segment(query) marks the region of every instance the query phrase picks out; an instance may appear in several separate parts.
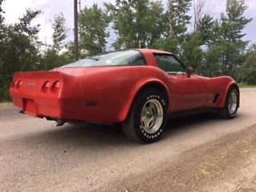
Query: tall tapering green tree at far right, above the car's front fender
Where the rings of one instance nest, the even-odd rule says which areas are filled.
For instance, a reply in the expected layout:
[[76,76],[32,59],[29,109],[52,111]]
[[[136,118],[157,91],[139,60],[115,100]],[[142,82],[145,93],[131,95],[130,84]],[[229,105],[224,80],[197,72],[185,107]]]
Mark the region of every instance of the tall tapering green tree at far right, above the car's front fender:
[[251,18],[243,16],[247,6],[243,0],[227,0],[226,15],[221,15],[221,21],[216,26],[216,40],[211,50],[218,50],[216,61],[222,64],[221,74],[232,75],[244,59],[245,48],[248,42],[243,41],[244,27]]

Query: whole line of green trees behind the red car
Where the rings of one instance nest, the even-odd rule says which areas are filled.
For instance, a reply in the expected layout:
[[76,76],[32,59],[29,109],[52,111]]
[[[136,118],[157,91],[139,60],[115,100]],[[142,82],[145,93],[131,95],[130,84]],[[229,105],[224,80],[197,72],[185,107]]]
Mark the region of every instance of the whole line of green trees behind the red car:
[[[31,22],[41,10],[27,9],[14,24],[6,24],[0,0],[0,101],[10,99],[14,71],[50,70],[74,61],[74,42],[67,41],[63,14],[54,16],[53,44],[38,38],[40,25]],[[230,75],[256,84],[256,44],[243,40],[252,18],[244,0],[226,0],[219,19],[207,14],[206,0],[115,0],[84,7],[78,15],[82,58],[107,50],[154,48],[173,52],[198,74]],[[193,12],[193,17],[190,15]],[[192,21],[193,18],[193,21]],[[115,36],[110,45],[110,33]],[[107,46],[110,46],[107,48]]]

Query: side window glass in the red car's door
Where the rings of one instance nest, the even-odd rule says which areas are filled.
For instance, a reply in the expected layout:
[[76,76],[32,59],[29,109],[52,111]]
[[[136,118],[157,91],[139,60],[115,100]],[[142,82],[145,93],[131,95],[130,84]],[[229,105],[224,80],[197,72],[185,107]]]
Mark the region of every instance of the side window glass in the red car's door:
[[160,69],[168,74],[177,74],[178,72],[185,73],[186,69],[180,62],[177,61],[171,54],[154,54]]

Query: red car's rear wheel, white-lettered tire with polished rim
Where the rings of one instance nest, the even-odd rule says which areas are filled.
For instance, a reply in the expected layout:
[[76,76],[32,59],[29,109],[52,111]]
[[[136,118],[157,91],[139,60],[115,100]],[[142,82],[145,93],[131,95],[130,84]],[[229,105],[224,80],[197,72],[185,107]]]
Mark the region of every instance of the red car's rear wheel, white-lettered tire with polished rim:
[[156,142],[166,126],[166,98],[155,89],[142,90],[135,98],[122,130],[128,138],[140,142]]

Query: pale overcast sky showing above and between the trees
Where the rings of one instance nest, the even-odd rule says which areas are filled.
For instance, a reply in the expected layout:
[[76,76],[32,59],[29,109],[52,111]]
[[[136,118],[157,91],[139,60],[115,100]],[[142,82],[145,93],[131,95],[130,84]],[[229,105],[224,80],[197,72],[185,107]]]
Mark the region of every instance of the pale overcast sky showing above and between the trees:
[[[73,38],[73,0],[6,0],[3,2],[2,8],[6,12],[5,18],[6,23],[18,22],[18,18],[21,18],[25,13],[26,8],[32,10],[42,10],[42,14],[34,20],[34,23],[41,25],[41,31],[39,38],[48,44],[52,43],[52,23],[50,20],[54,18],[54,14],[63,13],[66,18],[66,26],[70,29],[68,34],[69,38]],[[102,6],[103,2],[114,2],[114,0],[81,0],[82,8],[84,6],[92,6],[94,3],[98,3]],[[164,0],[163,2],[166,2]],[[245,39],[250,41],[250,43],[256,42],[256,1],[255,0],[245,0],[246,4],[249,6],[246,10],[247,18],[254,18],[252,22],[245,29]],[[206,0],[206,8],[208,9],[208,14],[211,14],[214,18],[219,18],[220,13],[225,12],[225,0]],[[108,39],[108,44],[114,42],[114,35],[111,35]]]

